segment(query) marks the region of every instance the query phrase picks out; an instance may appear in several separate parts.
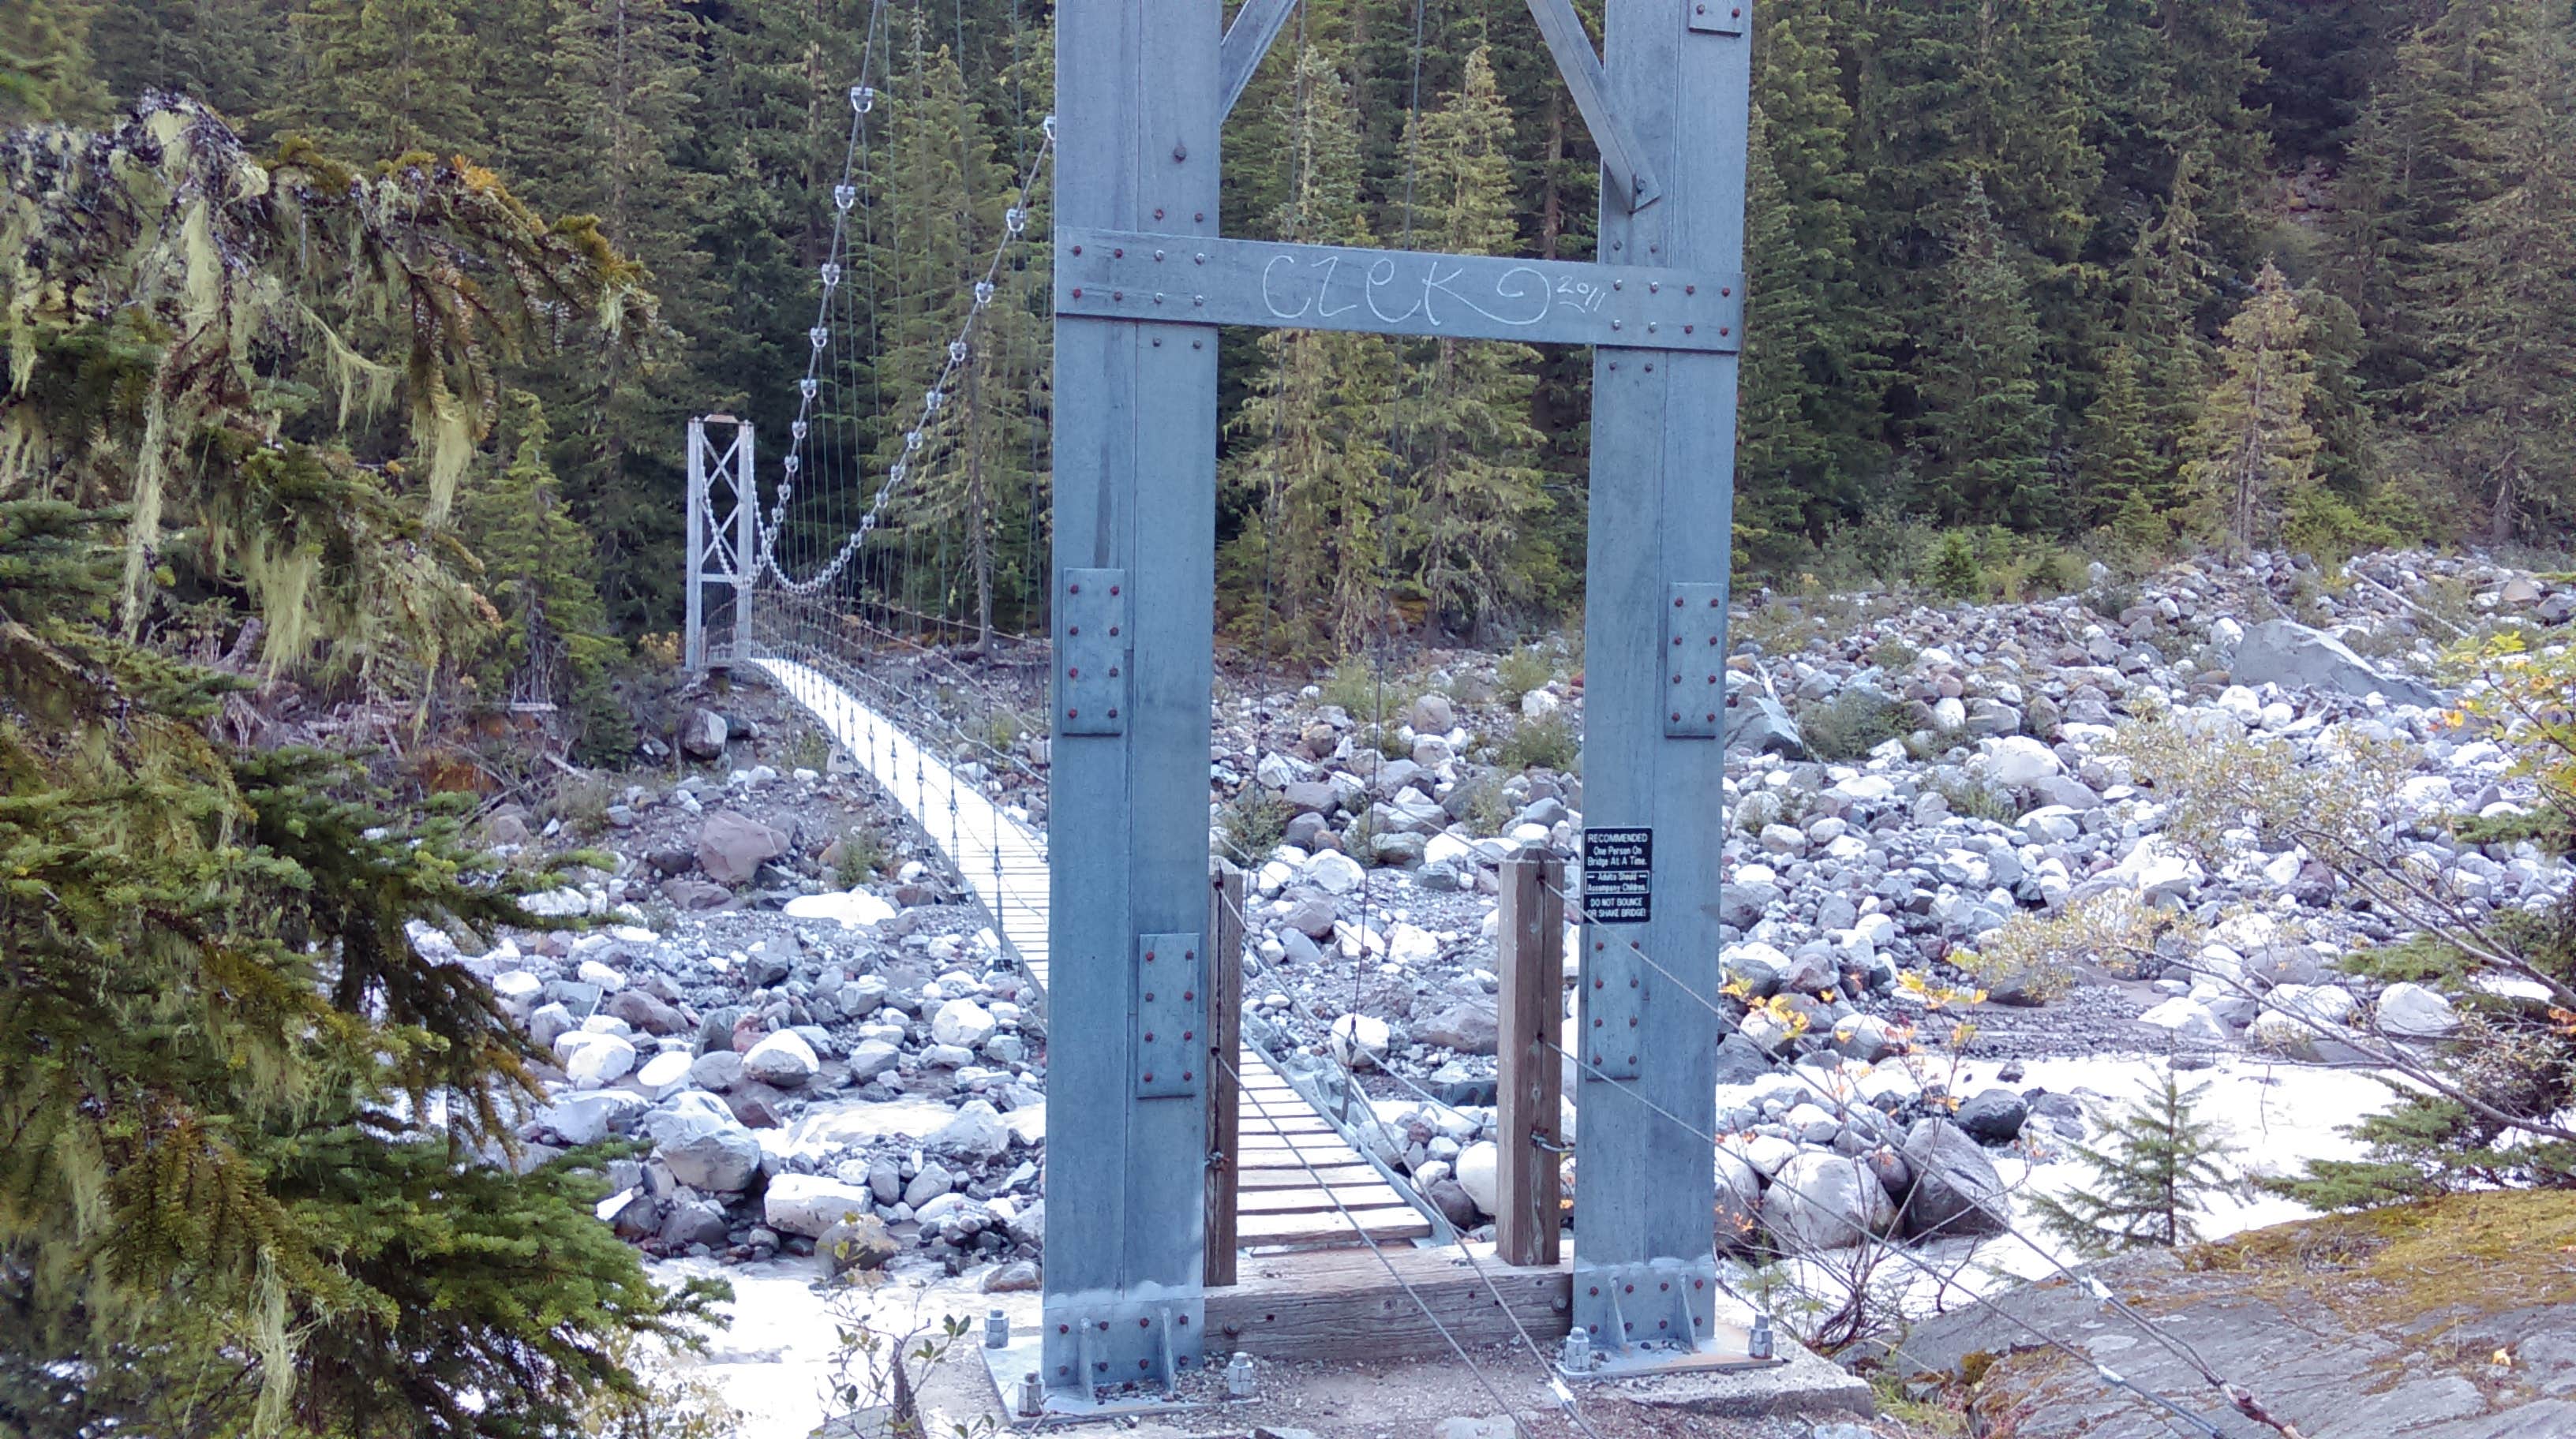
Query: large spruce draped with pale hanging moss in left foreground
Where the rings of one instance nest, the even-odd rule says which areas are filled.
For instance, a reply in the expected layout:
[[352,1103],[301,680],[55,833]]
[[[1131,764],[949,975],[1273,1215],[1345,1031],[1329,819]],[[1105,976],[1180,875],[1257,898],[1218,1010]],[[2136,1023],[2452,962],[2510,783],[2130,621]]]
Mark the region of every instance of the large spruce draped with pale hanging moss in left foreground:
[[[536,1055],[410,929],[526,924],[551,875],[222,703],[410,700],[479,636],[435,450],[634,270],[479,170],[252,165],[191,100],[5,165],[57,203],[0,216],[0,1429],[564,1434],[703,1295],[644,1279],[595,1174],[515,1174]],[[392,453],[353,453],[368,399],[415,402]]]

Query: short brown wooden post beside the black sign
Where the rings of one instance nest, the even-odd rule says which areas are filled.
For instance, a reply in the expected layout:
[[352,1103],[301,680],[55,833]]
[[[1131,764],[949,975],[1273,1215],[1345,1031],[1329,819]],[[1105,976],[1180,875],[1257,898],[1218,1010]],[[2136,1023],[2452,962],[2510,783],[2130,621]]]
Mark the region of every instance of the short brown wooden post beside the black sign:
[[1494,929],[1502,978],[1494,1249],[1504,1264],[1553,1267],[1561,1251],[1556,1153],[1564,1143],[1566,865],[1546,849],[1502,862]]

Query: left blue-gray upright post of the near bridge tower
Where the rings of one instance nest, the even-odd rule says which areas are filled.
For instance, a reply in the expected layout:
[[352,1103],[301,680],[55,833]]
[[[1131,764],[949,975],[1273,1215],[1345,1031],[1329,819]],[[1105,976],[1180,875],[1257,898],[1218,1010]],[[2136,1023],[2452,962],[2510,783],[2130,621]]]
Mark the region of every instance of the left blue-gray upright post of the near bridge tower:
[[[1216,234],[1221,18],[1059,5],[1059,265],[1069,229]],[[1043,1380],[1090,1393],[1167,1382],[1206,1328],[1206,1050],[1182,1035],[1208,960],[1216,330],[1059,317],[1054,396]]]

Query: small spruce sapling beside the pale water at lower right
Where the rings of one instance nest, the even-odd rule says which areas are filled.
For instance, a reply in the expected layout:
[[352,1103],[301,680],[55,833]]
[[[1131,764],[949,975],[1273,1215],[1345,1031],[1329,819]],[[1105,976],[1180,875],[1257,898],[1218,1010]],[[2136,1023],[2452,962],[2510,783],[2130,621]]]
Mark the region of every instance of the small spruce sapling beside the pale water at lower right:
[[2092,1182],[2063,1200],[2032,1197],[2040,1225],[2092,1256],[2197,1241],[2197,1215],[2228,1182],[2221,1128],[2197,1112],[2208,1089],[2184,1089],[2166,1068],[2154,1094],[2107,1115],[2099,1148],[2074,1146]]

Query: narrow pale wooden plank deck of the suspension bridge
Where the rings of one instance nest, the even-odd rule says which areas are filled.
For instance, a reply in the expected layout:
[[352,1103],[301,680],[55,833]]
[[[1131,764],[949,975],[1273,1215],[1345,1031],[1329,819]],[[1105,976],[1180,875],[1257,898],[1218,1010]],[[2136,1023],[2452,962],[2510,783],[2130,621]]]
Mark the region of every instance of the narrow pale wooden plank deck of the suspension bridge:
[[[832,677],[793,659],[752,659],[804,705],[938,839],[994,916],[1002,940],[1046,991],[1046,849],[1018,819],[956,777],[902,726]],[[1244,1249],[1358,1249],[1430,1236],[1432,1225],[1249,1045],[1236,1058],[1244,1081],[1242,1202]],[[1345,1210],[1350,1218],[1345,1218]],[[1355,1228],[1358,1225],[1358,1228]]]

